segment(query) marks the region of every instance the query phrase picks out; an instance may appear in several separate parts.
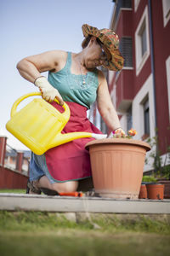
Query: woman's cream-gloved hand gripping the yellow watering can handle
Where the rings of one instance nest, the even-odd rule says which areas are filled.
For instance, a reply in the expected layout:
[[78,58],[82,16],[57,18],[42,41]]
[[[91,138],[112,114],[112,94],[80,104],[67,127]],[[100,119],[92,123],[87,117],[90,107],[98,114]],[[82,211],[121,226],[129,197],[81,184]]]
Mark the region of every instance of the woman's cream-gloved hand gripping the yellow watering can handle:
[[42,93],[42,98],[48,102],[53,102],[56,98],[59,101],[59,105],[63,105],[62,96],[59,91],[49,84],[48,79],[45,77],[39,77],[34,81],[34,84],[39,88]]

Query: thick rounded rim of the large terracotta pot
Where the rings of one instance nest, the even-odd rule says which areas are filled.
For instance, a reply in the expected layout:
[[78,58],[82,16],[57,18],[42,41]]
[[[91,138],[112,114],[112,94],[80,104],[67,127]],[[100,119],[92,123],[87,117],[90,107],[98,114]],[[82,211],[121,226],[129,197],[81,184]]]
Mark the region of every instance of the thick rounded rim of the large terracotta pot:
[[91,146],[99,145],[99,144],[128,144],[135,145],[142,148],[145,148],[146,151],[150,151],[150,145],[140,140],[133,140],[127,138],[105,138],[105,139],[97,139],[91,141],[85,145],[86,149],[89,149]]

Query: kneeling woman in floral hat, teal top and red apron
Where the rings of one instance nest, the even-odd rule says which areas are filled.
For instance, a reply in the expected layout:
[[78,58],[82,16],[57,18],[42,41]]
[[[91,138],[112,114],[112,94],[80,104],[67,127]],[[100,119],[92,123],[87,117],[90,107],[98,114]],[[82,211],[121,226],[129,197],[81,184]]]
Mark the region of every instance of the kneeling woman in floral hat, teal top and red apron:
[[[81,52],[53,50],[32,55],[21,60],[17,68],[23,78],[39,88],[42,98],[51,102],[54,108],[61,108],[63,101],[69,105],[71,119],[63,132],[101,133],[89,122],[86,113],[96,100],[105,124],[111,131],[118,130],[122,134],[124,131],[112,105],[105,76],[96,68],[103,65],[111,70],[122,69],[118,37],[109,29],[98,30],[87,24],[82,26],[82,32],[85,39]],[[48,79],[41,76],[45,71],[48,71]],[[54,98],[59,100],[60,106]],[[46,188],[46,192],[48,189],[59,193],[72,192],[77,190],[78,183],[89,181],[90,160],[84,146],[90,140],[92,138],[77,139],[51,148],[40,156],[32,154],[28,183],[30,193],[40,194],[42,188]]]

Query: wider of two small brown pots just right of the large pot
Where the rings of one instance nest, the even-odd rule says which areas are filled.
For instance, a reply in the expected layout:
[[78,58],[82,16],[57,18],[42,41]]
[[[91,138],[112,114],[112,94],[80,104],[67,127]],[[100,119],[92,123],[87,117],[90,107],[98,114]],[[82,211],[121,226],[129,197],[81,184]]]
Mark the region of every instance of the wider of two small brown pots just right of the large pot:
[[164,184],[150,183],[146,184],[148,199],[163,200],[164,198]]

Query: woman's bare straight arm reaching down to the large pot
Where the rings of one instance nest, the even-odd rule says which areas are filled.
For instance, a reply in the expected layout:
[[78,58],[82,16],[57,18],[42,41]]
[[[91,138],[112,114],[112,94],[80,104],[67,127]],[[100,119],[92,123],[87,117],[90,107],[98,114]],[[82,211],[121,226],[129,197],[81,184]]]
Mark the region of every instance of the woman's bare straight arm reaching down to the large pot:
[[111,129],[116,130],[121,127],[117,113],[111,102],[111,96],[108,90],[105,75],[99,71],[99,88],[97,94],[97,104],[99,113],[105,121],[105,124]]

